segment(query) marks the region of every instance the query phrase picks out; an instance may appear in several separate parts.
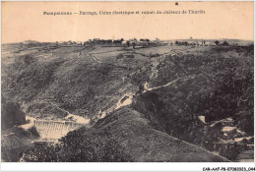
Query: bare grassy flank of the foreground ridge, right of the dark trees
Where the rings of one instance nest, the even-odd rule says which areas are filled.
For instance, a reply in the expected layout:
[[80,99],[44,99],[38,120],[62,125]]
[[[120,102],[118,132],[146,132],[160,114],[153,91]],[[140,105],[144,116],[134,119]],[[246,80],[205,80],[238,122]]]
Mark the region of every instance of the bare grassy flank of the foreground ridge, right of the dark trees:
[[124,151],[135,161],[226,161],[221,156],[155,130],[143,114],[128,107],[99,120],[95,128],[107,130],[115,136]]

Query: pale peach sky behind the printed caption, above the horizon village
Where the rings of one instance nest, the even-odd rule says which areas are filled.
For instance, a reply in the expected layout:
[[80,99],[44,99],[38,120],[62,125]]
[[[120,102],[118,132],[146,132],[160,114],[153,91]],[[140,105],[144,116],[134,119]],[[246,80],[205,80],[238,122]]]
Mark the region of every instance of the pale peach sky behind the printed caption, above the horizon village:
[[[25,40],[85,41],[90,38],[254,39],[253,2],[2,2],[2,43]],[[143,11],[204,11],[155,14]],[[79,15],[79,12],[139,11],[138,15]],[[72,12],[73,15],[43,15]],[[74,13],[78,13],[77,15]]]

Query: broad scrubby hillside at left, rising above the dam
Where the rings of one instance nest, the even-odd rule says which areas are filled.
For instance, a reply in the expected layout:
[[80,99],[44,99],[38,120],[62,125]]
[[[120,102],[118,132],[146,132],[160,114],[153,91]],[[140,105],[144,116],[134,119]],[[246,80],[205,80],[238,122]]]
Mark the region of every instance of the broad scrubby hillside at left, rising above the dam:
[[[95,116],[99,110],[114,105],[136,86],[123,85],[127,70],[98,63],[89,53],[98,47],[61,47],[16,57],[3,65],[3,94],[23,103],[26,112],[42,118],[62,118],[66,111],[82,116]],[[83,50],[84,49],[84,50]],[[81,57],[78,52],[82,50]]]

